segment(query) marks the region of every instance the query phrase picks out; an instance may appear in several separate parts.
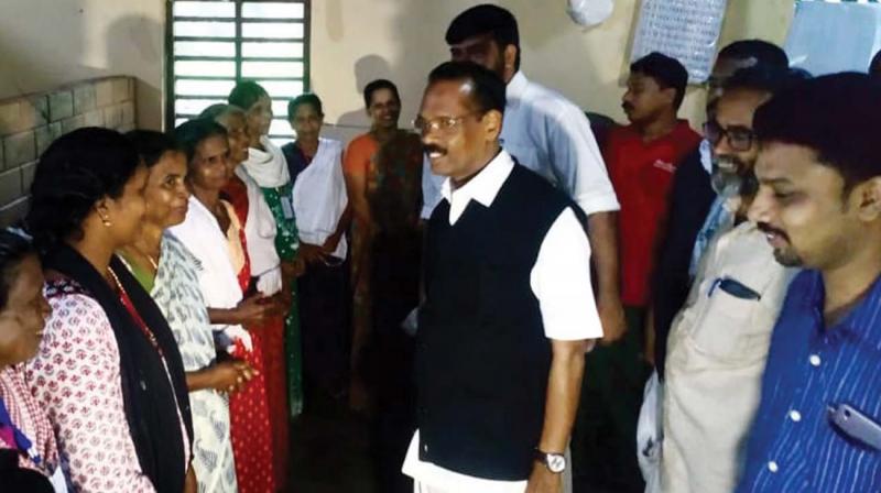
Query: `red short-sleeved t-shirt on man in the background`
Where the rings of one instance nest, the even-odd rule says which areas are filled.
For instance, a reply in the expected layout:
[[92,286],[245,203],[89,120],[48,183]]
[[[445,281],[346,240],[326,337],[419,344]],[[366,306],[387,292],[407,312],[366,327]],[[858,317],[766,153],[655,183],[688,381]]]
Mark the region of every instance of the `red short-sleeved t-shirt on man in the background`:
[[673,176],[699,143],[700,135],[686,121],[651,142],[644,142],[633,125],[609,132],[603,156],[621,204],[619,258],[626,305],[649,304],[655,246],[666,221]]

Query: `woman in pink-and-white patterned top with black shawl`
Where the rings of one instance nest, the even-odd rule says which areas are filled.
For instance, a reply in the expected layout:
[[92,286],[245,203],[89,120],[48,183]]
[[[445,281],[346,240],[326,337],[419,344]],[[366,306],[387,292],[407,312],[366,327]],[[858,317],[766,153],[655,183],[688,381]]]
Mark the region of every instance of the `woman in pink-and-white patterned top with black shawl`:
[[177,343],[113,254],[137,238],[146,177],[122,134],[86,128],[50,145],[31,187],[25,223],[52,315],[26,380],[77,492],[178,493],[192,460]]

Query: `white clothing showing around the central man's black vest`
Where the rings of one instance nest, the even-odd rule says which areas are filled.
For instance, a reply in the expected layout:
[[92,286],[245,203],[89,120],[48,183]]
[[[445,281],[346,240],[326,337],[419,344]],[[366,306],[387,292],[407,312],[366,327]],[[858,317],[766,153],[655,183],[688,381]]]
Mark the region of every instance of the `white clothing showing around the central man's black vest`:
[[[454,190],[446,179],[440,193],[449,202],[449,222],[455,224],[468,202],[491,207],[508,179],[514,162],[501,151],[477,176]],[[530,286],[542,313],[548,339],[586,340],[602,337],[602,328],[590,284],[590,245],[572,208],[566,208],[545,234],[530,275]],[[537,443],[536,443],[537,446]],[[418,459],[418,431],[413,437],[403,472],[418,483],[458,493],[522,493],[525,481],[493,481],[460,474]]]

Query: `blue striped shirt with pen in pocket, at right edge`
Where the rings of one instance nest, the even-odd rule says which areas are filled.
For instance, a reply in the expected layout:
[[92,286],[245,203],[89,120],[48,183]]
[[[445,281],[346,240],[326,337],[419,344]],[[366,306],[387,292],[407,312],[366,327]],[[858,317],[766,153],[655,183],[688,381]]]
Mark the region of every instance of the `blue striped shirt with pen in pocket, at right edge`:
[[848,404],[881,423],[881,277],[829,329],[824,298],[816,271],[790,286],[739,493],[881,491],[881,450],[847,438],[828,410]]

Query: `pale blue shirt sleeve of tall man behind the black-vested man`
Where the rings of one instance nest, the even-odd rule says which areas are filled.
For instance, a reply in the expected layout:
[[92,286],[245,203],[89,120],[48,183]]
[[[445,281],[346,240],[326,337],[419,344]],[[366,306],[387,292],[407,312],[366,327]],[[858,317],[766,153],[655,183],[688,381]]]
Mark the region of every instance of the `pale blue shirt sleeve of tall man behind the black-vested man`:
[[558,106],[546,116],[555,120],[548,125],[548,158],[557,183],[588,216],[619,210],[590,122],[575,105]]

